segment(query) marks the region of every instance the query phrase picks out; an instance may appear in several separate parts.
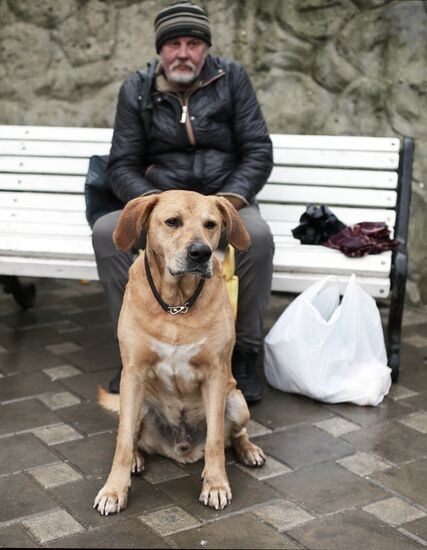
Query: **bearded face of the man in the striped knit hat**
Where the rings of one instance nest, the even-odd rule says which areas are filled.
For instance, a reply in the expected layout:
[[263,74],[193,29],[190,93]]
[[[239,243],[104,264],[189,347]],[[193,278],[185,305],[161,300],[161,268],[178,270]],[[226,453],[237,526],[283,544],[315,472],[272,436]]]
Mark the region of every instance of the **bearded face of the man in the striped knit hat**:
[[183,36],[165,42],[160,50],[163,69],[169,82],[190,84],[199,76],[209,46],[204,40]]

